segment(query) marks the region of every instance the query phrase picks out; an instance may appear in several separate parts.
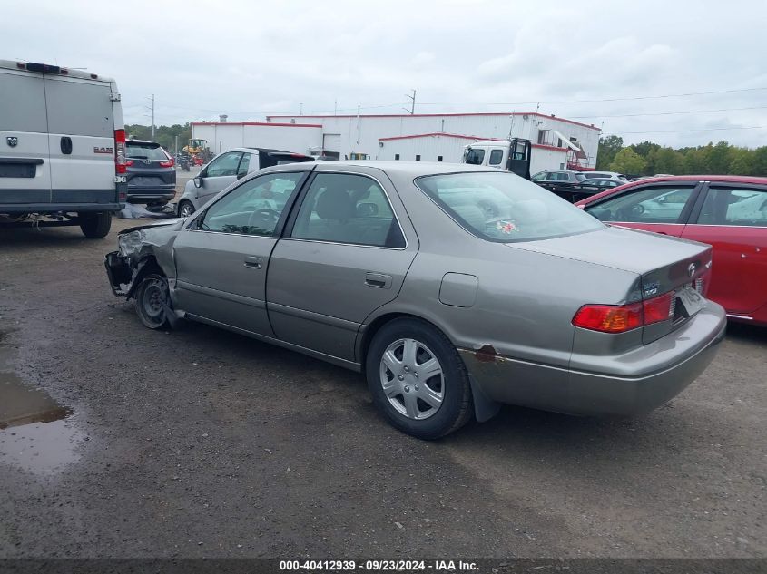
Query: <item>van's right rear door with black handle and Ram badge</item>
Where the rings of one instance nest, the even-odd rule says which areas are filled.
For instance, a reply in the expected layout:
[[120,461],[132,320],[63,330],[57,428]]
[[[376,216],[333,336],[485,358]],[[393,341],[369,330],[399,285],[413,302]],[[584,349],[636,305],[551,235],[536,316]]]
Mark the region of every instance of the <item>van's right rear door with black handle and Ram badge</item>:
[[45,76],[53,204],[117,201],[111,96],[107,82]]

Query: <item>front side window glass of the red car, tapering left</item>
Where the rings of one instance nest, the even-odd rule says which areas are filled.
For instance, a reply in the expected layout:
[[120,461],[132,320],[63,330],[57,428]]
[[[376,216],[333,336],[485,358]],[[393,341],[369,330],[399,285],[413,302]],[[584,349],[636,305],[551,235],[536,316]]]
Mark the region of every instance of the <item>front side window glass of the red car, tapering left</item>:
[[602,221],[678,223],[694,186],[643,188],[585,210]]

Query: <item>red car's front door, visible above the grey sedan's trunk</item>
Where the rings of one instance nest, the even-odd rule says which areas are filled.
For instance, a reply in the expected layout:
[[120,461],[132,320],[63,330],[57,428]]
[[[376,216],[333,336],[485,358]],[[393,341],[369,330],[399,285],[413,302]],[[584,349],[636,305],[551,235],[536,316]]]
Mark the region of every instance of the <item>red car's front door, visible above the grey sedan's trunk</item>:
[[681,237],[700,187],[697,181],[635,186],[585,210],[605,223]]

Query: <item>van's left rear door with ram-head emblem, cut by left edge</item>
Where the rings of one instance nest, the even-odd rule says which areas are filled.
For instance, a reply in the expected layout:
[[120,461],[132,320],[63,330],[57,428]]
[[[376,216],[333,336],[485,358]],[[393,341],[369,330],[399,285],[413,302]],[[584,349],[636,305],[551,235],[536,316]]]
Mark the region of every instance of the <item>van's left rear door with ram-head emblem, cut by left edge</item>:
[[51,200],[43,75],[0,68],[0,213]]

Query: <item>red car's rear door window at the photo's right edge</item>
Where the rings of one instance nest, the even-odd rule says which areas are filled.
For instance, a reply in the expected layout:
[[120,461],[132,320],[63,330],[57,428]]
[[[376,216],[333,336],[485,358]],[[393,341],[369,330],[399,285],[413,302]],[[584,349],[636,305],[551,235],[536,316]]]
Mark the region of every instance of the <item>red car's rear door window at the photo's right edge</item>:
[[711,188],[698,223],[767,228],[767,190]]

